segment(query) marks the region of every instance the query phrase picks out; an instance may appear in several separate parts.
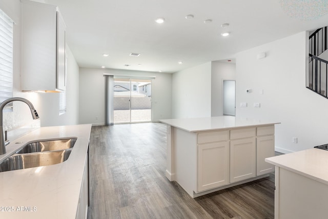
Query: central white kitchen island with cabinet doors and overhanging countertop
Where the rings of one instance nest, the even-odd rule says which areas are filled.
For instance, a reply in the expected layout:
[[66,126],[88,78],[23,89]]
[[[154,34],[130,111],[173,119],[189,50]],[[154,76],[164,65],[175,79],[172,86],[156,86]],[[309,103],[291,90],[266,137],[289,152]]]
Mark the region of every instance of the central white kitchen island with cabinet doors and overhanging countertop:
[[167,170],[197,197],[268,176],[277,122],[234,116],[160,120],[167,124]]

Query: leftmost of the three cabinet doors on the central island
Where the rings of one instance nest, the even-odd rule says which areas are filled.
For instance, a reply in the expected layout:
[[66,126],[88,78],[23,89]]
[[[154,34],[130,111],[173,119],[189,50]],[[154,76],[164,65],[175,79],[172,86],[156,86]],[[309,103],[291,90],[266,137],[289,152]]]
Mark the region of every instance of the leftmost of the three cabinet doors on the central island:
[[229,184],[228,142],[198,145],[198,192]]

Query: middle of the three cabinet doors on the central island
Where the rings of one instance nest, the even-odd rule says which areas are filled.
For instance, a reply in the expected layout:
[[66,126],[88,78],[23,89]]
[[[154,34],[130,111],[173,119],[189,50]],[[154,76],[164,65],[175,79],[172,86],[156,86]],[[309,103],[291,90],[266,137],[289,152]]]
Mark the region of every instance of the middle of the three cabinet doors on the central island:
[[255,137],[230,142],[230,183],[255,177]]

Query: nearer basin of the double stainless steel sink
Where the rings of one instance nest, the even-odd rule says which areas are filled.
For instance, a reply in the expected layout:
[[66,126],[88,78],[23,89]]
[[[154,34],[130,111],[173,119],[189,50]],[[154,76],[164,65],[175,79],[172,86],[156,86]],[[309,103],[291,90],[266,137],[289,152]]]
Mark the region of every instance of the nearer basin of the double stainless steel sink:
[[14,154],[0,163],[0,172],[49,166],[66,161],[72,149],[38,153]]

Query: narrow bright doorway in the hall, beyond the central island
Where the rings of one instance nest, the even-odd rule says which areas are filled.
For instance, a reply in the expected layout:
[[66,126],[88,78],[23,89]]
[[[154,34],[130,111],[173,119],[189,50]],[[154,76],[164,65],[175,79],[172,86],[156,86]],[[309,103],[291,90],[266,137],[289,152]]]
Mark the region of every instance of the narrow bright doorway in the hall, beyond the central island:
[[223,115],[236,115],[236,81],[223,80]]

